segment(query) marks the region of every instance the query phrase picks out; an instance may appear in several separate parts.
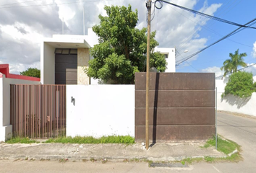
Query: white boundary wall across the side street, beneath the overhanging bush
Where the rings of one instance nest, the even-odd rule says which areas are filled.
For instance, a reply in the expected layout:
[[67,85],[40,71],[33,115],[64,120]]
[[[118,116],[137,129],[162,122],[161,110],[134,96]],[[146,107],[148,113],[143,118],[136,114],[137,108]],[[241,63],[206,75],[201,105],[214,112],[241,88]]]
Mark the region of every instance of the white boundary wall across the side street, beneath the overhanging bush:
[[217,109],[229,112],[242,113],[246,115],[256,116],[256,93],[252,93],[252,97],[239,98],[234,95],[227,95],[221,98],[221,94],[225,92],[228,78],[216,79],[217,87]]

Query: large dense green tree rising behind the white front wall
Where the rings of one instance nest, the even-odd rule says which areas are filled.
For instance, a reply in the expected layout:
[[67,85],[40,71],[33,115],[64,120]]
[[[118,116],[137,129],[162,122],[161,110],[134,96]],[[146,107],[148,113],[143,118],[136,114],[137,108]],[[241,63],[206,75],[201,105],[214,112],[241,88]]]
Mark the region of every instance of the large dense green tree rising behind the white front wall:
[[[137,9],[132,6],[105,6],[106,17],[99,15],[100,25],[93,31],[99,37],[99,44],[90,49],[94,59],[89,61],[85,73],[93,79],[110,84],[133,84],[135,73],[145,71],[147,35],[146,28],[139,30]],[[154,39],[155,32],[150,35],[150,67],[158,71],[166,70],[166,59],[161,53],[154,53],[158,45]]]

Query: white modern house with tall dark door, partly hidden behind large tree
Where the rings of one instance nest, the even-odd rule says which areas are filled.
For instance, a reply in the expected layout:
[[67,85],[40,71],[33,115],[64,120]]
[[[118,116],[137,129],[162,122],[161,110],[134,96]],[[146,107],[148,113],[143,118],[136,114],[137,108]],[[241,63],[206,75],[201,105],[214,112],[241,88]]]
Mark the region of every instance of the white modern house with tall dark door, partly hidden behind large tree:
[[[40,48],[42,84],[98,84],[83,67],[89,66],[89,49],[98,44],[98,36],[90,28],[88,35],[53,35],[43,39]],[[175,72],[175,48],[155,48],[168,63],[166,72]]]

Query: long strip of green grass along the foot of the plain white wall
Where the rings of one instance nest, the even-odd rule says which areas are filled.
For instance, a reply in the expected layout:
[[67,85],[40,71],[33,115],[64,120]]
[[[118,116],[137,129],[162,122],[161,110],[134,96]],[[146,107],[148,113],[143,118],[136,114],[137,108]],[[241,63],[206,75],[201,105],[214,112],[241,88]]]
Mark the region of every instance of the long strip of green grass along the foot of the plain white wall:
[[132,136],[103,136],[101,138],[93,138],[92,136],[81,137],[62,137],[50,138],[46,143],[135,143],[135,138]]

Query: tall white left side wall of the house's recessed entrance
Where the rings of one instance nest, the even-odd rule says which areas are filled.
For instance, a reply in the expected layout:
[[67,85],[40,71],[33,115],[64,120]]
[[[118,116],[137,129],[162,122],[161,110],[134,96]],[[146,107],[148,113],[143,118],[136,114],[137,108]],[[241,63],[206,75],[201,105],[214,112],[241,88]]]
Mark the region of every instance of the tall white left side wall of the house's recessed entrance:
[[55,48],[47,43],[40,47],[40,79],[42,84],[55,84]]

